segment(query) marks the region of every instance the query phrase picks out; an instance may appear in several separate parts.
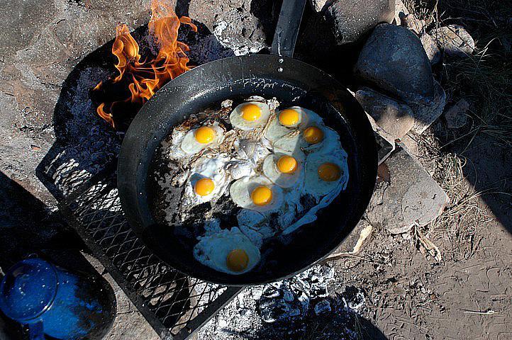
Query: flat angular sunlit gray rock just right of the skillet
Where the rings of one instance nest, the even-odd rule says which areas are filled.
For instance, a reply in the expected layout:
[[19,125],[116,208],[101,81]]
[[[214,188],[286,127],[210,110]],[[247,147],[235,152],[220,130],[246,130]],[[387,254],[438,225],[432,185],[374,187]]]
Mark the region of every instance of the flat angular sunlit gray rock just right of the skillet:
[[366,215],[374,227],[401,234],[440,215],[448,196],[402,145],[384,164],[390,181],[377,183]]

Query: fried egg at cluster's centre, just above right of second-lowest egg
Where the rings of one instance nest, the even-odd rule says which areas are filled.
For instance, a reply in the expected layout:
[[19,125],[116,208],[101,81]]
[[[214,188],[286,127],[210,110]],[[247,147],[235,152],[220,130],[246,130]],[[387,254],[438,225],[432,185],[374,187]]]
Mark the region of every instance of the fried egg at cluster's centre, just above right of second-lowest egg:
[[282,188],[294,186],[304,178],[304,154],[276,152],[269,154],[263,161],[263,174],[267,179]]

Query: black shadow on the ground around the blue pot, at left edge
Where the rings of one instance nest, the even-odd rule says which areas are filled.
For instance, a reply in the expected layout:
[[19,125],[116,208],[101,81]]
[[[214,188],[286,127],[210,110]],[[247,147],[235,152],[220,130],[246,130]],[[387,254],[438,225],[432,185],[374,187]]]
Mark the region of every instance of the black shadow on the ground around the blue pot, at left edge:
[[[58,212],[51,212],[22,186],[0,172],[0,273],[26,258],[37,257],[72,273],[82,273],[115,300],[113,290],[80,254],[79,239]],[[2,326],[4,324],[4,326]],[[25,330],[0,312],[0,338],[25,339]]]

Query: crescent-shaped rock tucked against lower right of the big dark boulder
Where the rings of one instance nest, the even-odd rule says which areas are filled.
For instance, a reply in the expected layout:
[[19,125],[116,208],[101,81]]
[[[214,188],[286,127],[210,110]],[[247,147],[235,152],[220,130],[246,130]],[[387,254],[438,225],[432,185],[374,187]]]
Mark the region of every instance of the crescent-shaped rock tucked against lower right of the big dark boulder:
[[437,81],[434,81],[434,89],[435,94],[433,98],[423,103],[411,103],[409,105],[413,109],[414,114],[414,127],[412,130],[418,134],[427,130],[427,128],[443,114],[443,110],[445,109],[445,90],[443,90]]

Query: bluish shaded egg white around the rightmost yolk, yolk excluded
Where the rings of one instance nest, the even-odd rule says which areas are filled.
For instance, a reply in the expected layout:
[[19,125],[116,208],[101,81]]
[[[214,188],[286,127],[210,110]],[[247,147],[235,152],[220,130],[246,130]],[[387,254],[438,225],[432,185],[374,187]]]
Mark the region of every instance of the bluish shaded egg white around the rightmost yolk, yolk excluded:
[[[338,181],[323,181],[318,176],[318,166],[323,163],[333,163],[340,167],[341,176]],[[308,155],[306,158],[306,177],[304,183],[304,193],[309,193],[316,200],[322,196],[328,195],[335,191],[340,191],[345,188],[348,181],[348,166],[347,166],[347,153],[343,149],[338,149],[337,152],[330,154],[323,154],[315,152]]]

